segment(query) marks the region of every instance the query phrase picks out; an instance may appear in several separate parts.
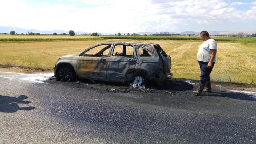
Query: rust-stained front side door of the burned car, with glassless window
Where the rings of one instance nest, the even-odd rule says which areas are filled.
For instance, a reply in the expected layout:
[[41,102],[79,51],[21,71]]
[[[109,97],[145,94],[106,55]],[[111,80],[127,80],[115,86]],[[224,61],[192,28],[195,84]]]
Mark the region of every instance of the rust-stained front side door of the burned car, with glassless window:
[[109,56],[111,44],[101,44],[81,53],[77,63],[79,78],[106,80],[106,59]]

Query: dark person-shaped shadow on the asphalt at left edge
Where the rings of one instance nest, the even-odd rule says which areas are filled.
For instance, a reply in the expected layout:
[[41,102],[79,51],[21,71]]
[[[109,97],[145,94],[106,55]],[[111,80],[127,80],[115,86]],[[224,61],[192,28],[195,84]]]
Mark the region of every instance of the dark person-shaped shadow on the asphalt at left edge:
[[30,101],[24,101],[28,97],[25,95],[20,95],[18,98],[10,96],[0,95],[0,112],[4,113],[14,113],[18,110],[33,110],[35,107],[19,107],[18,104],[29,104]]

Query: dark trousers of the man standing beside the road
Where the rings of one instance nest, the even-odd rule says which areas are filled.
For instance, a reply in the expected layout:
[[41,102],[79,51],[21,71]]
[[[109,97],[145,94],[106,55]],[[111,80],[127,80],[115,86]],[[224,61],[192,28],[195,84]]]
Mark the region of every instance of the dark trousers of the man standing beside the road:
[[213,69],[213,66],[214,66],[215,62],[212,63],[211,68],[207,67],[208,62],[198,61],[198,63],[199,63],[200,70],[201,70],[201,76],[200,76],[200,83],[199,83],[198,91],[202,92],[204,87],[208,90],[211,90],[210,73]]

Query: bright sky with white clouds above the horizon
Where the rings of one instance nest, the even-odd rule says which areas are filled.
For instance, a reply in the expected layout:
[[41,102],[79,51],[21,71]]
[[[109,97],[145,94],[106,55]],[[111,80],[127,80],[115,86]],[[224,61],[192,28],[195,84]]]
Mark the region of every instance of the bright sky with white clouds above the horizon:
[[256,0],[1,0],[0,26],[98,33],[256,31]]

